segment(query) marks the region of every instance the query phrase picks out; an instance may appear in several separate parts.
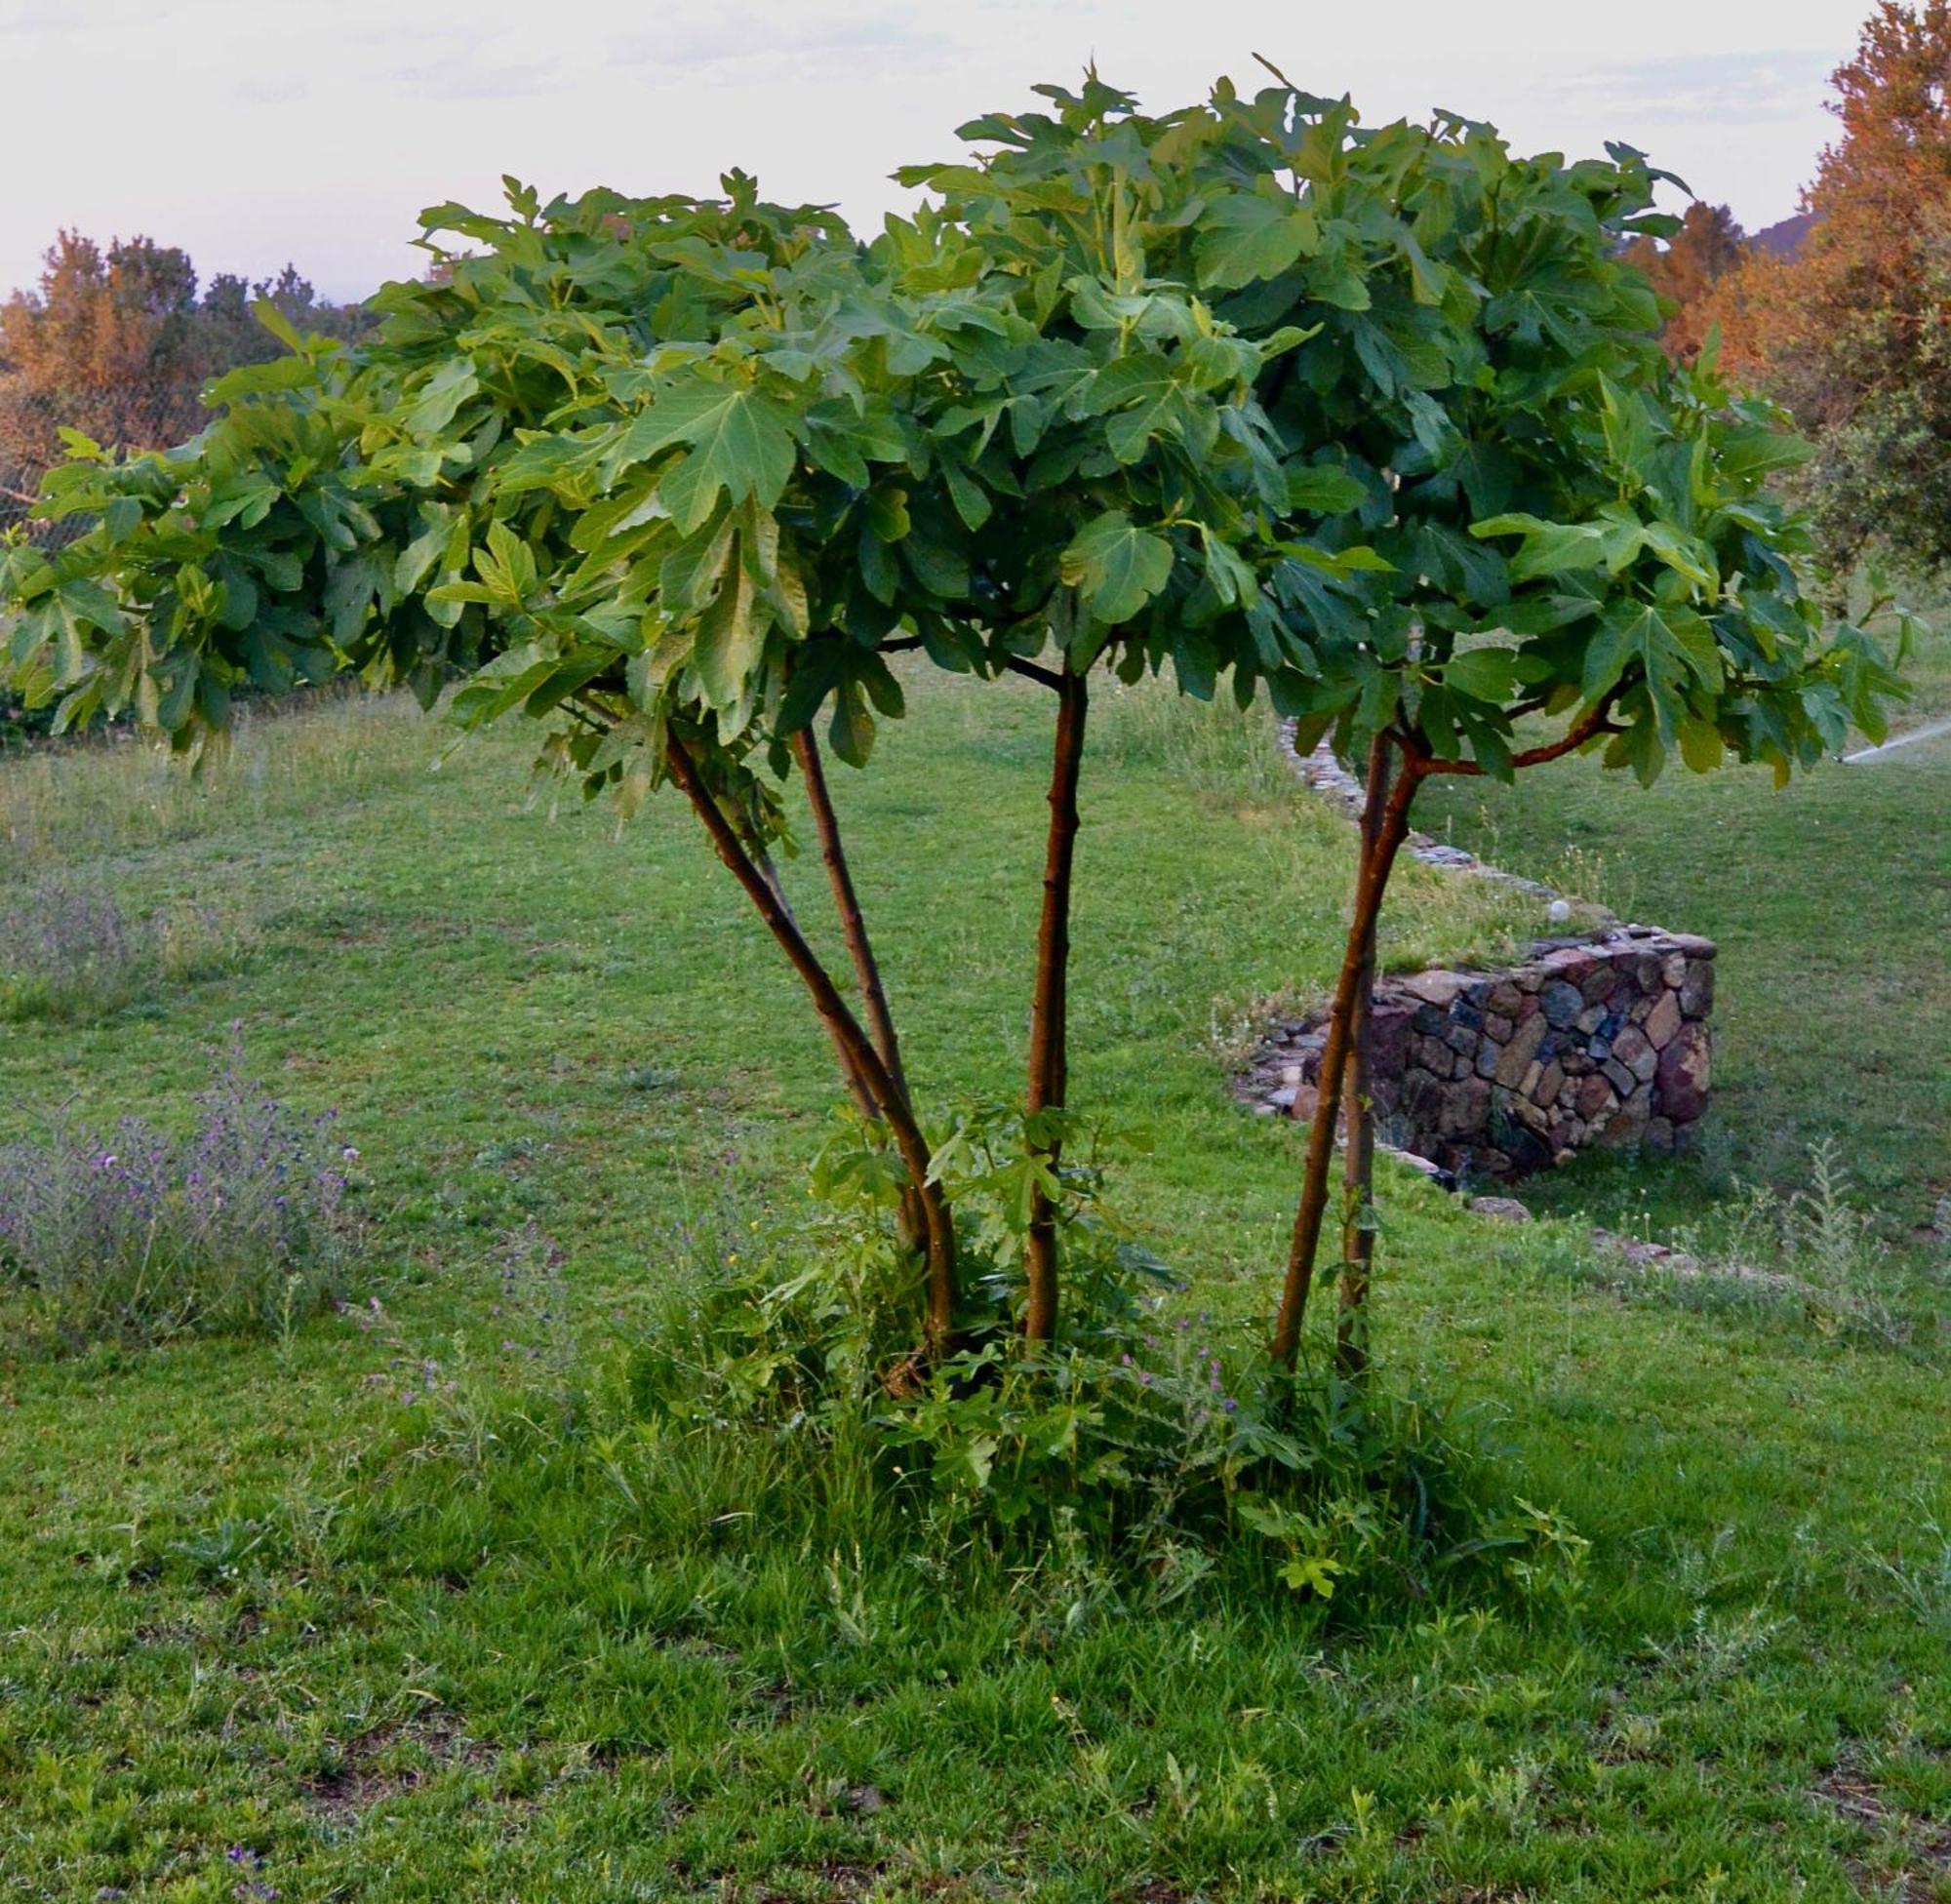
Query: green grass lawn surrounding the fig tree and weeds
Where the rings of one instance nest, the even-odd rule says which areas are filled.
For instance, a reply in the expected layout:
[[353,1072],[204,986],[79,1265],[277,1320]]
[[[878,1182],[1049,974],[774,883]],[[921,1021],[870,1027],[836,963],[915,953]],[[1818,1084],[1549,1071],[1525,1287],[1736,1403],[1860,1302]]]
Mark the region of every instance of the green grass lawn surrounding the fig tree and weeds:
[[[1046,722],[1028,691],[935,683],[839,788],[936,1102],[1016,1081]],[[1258,728],[1167,732],[1110,708],[1087,769],[1073,1102],[1147,1145],[1120,1202],[1190,1301],[1258,1319],[1299,1145],[1231,1104],[1221,1051],[1333,972],[1350,841]],[[435,745],[334,704],[258,724],[207,792],[131,749],[0,765],[16,892],[60,864],[217,921],[105,1018],[0,1026],[0,1139],[60,1108],[181,1120],[234,1022],[361,1149],[386,1311],[0,1360],[0,1898],[1951,1896],[1937,1336],[1621,1289],[1571,1219],[1493,1225],[1385,1172],[1389,1381],[1453,1399],[1500,1485],[1592,1543],[1561,1590],[1387,1631],[1118,1600],[1063,1555],[968,1604],[927,1555],[794,1551],[708,1490],[671,1551],[601,1461],[499,1418],[433,1432],[394,1362],[494,1364],[509,1233],[562,1245],[595,1360],[700,1249],[794,1208],[835,1094],[689,815],[550,815],[511,743],[429,778]],[[1951,1051],[1941,987],[1918,997],[1941,862],[1935,899],[1892,878],[1910,849],[1844,833],[1867,782],[1842,773],[1795,796],[1826,808],[1727,784],[1731,829],[1803,812],[1807,851],[1762,866],[1783,837],[1731,831],[1715,874],[1625,831],[1606,856],[1727,946],[1740,1141],[1834,1130],[1916,1208],[1910,1126],[1935,1102],[1941,1135]],[[1717,837],[1672,798],[1621,796],[1621,827]],[[1530,853],[1510,821],[1498,843]],[[814,868],[788,878],[825,931]],[[1779,909],[1814,880],[1832,897]],[[1783,983],[1814,956],[1783,923],[1824,905],[1877,905],[1902,983],[1848,952],[1828,1011]],[[1530,923],[1424,872],[1397,921],[1397,960]],[[1869,1050],[1889,1089],[1824,1114]]]

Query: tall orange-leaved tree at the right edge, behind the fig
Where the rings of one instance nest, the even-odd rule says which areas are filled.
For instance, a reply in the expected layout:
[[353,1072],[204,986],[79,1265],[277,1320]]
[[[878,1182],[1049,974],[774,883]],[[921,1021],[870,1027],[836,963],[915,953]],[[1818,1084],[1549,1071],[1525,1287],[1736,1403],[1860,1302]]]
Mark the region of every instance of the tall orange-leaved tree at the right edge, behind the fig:
[[1723,367],[1816,441],[1830,554],[1951,562],[1951,0],[1881,0],[1832,76],[1842,123],[1795,258],[1750,254],[1699,310]]

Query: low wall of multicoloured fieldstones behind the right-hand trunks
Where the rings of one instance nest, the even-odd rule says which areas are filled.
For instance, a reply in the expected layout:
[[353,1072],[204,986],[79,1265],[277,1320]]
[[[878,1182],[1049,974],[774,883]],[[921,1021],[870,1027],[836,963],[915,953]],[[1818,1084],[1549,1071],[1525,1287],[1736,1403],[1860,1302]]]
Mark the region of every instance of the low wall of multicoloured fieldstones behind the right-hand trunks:
[[[1502,972],[1375,987],[1377,1135],[1446,1170],[1514,1176],[1592,1143],[1682,1149],[1707,1108],[1715,948],[1617,927]],[[1243,1094],[1311,1120],[1325,1026],[1276,1026]]]

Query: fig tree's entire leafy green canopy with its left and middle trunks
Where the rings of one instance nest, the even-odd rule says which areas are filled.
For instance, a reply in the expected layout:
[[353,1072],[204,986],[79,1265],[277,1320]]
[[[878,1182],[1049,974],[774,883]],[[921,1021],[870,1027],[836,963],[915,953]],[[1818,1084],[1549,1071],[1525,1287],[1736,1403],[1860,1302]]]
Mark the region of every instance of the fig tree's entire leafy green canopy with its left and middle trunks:
[[872,242],[741,174],[714,201],[509,179],[505,213],[439,207],[439,269],[386,287],[371,336],[261,306],[285,357],[220,378],[181,449],[74,437],[43,513],[86,533],[0,558],[12,667],[68,726],[133,712],[197,753],[242,683],[359,671],[462,724],[540,722],[542,761],[624,810],[675,782],[917,1194],[892,1038],[767,862],[780,782],[798,765],[823,802],[816,728],[868,759],[896,654],[1054,689],[1032,1336],[1093,669],[1393,747],[1403,813],[1434,773],[1586,743],[1641,780],[1674,753],[1785,776],[1875,732],[1892,687],[1801,591],[1779,416],[1658,347],[1621,248],[1676,226],[1639,152],[1520,158],[1286,84],[1167,115],[1095,74],[1038,92],[899,174],[933,197]]

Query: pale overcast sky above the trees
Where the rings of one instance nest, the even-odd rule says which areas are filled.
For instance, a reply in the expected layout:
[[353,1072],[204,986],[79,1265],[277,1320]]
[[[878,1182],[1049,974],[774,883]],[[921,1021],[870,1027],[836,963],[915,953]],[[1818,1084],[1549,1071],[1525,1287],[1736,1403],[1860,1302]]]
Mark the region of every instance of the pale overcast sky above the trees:
[[1750,228],[1795,211],[1869,0],[0,0],[0,293],[57,226],[287,258],[330,297],[419,269],[414,215],[556,189],[905,201],[897,164],[1093,55],[1149,105],[1251,84],[1446,105],[1526,150],[1649,150]]

